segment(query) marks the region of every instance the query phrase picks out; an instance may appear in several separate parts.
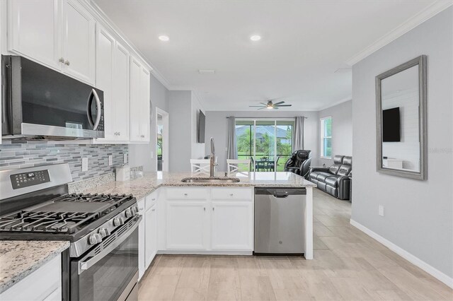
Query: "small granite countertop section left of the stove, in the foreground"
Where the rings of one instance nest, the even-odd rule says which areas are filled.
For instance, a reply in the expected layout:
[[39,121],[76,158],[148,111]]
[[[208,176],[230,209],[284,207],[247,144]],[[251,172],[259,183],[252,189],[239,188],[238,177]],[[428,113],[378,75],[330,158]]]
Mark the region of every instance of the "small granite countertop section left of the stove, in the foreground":
[[11,288],[67,248],[69,248],[69,242],[1,240],[0,293]]

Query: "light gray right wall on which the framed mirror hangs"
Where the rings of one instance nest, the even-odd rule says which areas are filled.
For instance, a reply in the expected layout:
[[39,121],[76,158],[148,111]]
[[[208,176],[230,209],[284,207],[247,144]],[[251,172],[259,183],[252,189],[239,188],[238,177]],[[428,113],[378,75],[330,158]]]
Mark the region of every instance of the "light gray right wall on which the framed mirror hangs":
[[[376,172],[374,77],[428,55],[428,180]],[[352,66],[352,220],[453,277],[453,8]],[[378,206],[385,216],[378,215]]]

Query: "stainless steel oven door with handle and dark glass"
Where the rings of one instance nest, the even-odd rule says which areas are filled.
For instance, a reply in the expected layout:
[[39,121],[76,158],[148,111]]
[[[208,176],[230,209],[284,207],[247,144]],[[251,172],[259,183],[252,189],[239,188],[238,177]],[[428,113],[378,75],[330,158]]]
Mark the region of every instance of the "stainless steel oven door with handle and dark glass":
[[137,216],[79,259],[71,260],[71,300],[137,300]]

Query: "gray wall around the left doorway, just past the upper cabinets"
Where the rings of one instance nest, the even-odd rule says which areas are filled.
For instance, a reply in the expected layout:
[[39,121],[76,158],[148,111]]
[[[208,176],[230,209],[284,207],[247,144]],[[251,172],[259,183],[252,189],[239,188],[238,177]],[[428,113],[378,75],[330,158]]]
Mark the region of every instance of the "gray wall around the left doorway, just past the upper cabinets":
[[149,143],[131,144],[130,166],[143,165],[145,172],[156,171],[156,107],[168,112],[168,90],[151,74],[151,126]]

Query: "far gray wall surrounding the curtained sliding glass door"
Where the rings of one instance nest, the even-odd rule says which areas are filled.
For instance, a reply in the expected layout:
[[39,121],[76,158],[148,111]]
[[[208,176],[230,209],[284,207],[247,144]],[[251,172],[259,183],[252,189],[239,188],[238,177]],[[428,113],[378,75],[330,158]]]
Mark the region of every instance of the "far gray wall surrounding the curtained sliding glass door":
[[[226,117],[296,117],[305,116],[304,146],[311,150],[312,166],[319,164],[319,115],[318,112],[259,112],[259,111],[208,111],[206,112],[206,141],[215,140],[215,150],[220,171],[226,170],[228,147],[228,119]],[[210,153],[210,143],[205,144],[205,152]]]

